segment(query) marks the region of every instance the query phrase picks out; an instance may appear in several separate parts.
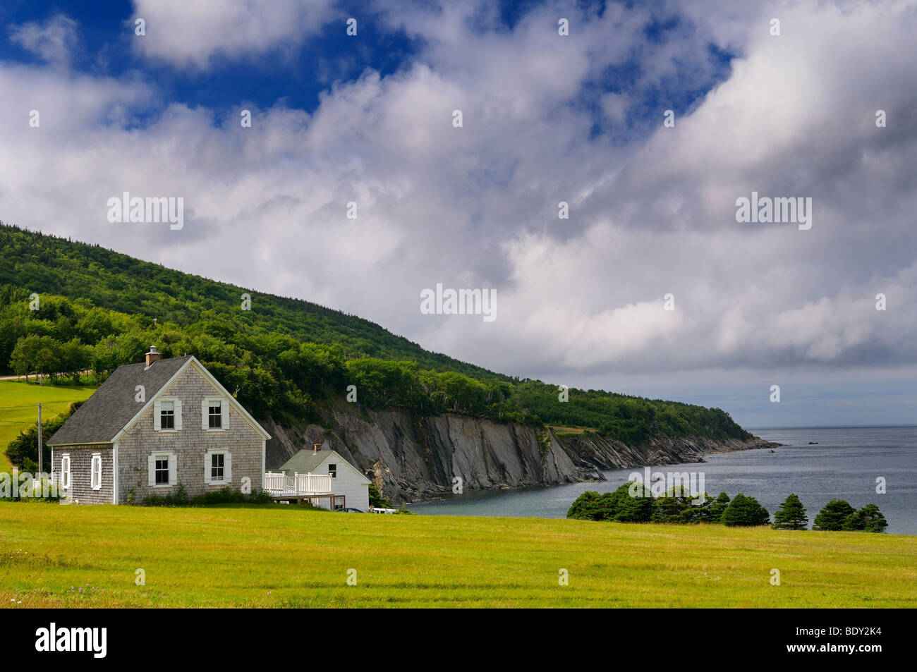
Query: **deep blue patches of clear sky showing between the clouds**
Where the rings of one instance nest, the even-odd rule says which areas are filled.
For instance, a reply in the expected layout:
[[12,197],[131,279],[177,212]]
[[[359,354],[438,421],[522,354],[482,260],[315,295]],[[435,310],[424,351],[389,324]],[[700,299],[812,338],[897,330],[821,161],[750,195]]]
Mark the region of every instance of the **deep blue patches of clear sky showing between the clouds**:
[[[368,69],[384,77],[408,68],[425,43],[422,35],[408,35],[402,27],[392,26],[381,10],[371,4],[360,8],[359,40],[355,40],[346,33],[346,20],[354,12],[341,4],[329,6],[332,11],[326,15],[326,22],[321,22],[321,30],[292,50],[280,45],[241,58],[217,52],[206,68],[190,70],[168,60],[144,58],[133,49],[136,36],[131,33],[131,25],[142,12],[138,13],[130,0],[13,2],[0,8],[0,22],[16,27],[69,17],[79,27],[78,48],[72,51],[74,72],[139,77],[155,84],[164,101],[204,106],[217,115],[228,115],[242,104],[260,108],[282,104],[312,114],[319,106],[320,94],[327,92],[333,83],[354,82]],[[539,4],[502,2],[497,6],[496,14],[481,10],[466,17],[470,30],[479,34],[511,33]],[[587,16],[593,17],[602,17],[606,10],[604,2],[585,3],[581,7]],[[648,12],[639,26],[644,43],[657,46],[665,45],[684,28],[683,17],[663,4]],[[149,25],[150,33],[159,29],[160,25]],[[679,115],[687,112],[728,76],[729,63],[734,57],[729,50],[709,42],[706,53],[700,54],[709,61],[708,76],[679,82],[679,73],[673,72],[667,80],[644,84],[641,83],[646,74],[641,62],[643,46],[636,44],[622,62],[595,72],[583,82],[576,98],[569,101],[569,105],[576,105],[592,116],[593,136],[610,134],[627,141],[648,133],[652,127],[649,117],[660,109],[670,108]],[[9,39],[0,42],[0,59],[31,65],[42,62],[34,51]],[[602,114],[601,97],[609,92],[637,94],[624,124],[612,125]]]

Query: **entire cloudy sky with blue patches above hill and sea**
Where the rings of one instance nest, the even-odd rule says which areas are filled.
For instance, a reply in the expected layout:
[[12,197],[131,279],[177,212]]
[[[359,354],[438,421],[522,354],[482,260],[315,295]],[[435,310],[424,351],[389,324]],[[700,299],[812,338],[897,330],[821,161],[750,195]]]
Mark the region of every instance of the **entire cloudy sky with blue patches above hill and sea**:
[[[917,423],[913,0],[253,6],[0,7],[0,218],[522,377]],[[184,226],[108,222],[126,191]],[[752,192],[811,230],[738,223]],[[497,319],[423,314],[436,283]]]

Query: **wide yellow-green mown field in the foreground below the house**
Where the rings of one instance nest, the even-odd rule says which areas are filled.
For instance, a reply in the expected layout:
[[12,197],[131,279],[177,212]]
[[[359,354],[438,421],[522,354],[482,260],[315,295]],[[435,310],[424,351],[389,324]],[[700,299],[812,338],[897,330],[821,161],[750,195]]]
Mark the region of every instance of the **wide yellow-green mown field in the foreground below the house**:
[[14,608],[913,607],[915,558],[905,535],[0,502]]

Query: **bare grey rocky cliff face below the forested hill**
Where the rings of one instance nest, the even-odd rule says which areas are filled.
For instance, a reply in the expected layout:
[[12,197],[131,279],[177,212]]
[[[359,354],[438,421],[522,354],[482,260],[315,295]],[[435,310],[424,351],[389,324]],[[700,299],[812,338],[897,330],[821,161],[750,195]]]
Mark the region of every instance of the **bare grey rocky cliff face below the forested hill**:
[[334,431],[316,424],[287,428],[267,422],[267,467],[321,443],[337,450],[392,501],[426,500],[452,490],[521,488],[602,479],[602,469],[701,462],[724,450],[772,446],[763,439],[719,443],[659,437],[646,446],[563,436],[513,423],[464,415],[422,417],[399,410],[334,412]]

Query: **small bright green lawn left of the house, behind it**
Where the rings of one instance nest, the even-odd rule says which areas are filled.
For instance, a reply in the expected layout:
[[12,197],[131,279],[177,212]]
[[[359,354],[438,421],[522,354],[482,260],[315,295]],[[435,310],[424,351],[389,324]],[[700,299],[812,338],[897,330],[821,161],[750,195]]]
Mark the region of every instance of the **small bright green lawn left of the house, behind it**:
[[[0,471],[9,471],[6,446],[20,430],[34,426],[39,419],[50,420],[64,413],[72,402],[82,402],[95,391],[94,387],[69,385],[36,385],[23,380],[0,380]],[[47,439],[48,436],[45,436]]]

